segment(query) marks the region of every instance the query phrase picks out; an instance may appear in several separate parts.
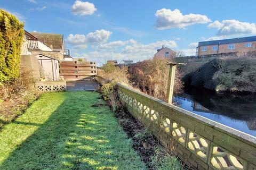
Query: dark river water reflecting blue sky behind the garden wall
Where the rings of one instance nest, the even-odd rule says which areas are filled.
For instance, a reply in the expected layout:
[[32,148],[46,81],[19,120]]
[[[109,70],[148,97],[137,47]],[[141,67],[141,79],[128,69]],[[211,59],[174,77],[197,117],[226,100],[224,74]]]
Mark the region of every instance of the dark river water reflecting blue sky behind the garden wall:
[[179,107],[256,137],[256,94],[217,95],[190,88],[176,96]]

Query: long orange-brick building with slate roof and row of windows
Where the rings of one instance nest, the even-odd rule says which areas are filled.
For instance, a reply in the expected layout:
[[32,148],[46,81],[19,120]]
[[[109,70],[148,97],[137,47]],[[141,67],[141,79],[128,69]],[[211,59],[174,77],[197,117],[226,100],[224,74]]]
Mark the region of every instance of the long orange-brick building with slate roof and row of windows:
[[202,41],[196,47],[196,56],[233,55],[238,52],[255,52],[256,36]]

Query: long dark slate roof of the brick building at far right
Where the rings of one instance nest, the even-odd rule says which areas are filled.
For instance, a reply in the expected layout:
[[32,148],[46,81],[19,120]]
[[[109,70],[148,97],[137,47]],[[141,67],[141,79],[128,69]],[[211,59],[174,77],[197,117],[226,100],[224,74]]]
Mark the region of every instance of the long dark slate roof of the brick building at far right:
[[231,44],[231,43],[244,43],[244,42],[250,42],[250,41],[256,41],[256,36],[222,39],[222,40],[213,40],[213,41],[202,41],[202,42],[198,43],[198,46],[210,46],[210,45]]

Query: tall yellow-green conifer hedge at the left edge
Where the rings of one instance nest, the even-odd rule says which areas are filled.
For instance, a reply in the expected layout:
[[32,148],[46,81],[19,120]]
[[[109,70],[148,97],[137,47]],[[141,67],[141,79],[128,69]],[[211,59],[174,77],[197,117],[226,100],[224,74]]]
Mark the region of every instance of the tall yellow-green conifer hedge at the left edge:
[[23,27],[14,15],[0,10],[0,83],[19,75]]

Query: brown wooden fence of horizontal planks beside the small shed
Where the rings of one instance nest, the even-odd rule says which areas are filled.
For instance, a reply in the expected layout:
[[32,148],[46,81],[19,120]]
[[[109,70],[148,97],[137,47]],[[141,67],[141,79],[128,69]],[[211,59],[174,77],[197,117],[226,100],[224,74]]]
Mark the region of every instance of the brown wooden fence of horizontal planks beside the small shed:
[[59,63],[60,76],[65,80],[78,80],[97,74],[94,62],[61,61]]

